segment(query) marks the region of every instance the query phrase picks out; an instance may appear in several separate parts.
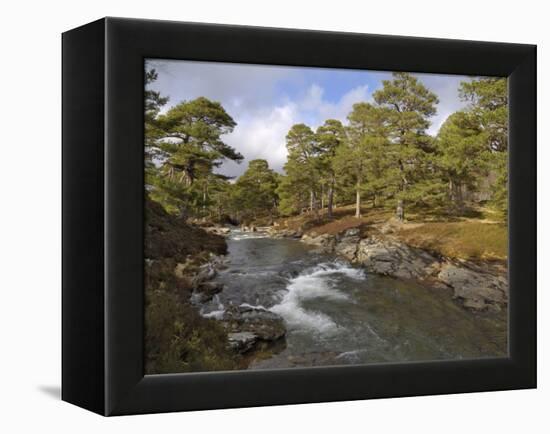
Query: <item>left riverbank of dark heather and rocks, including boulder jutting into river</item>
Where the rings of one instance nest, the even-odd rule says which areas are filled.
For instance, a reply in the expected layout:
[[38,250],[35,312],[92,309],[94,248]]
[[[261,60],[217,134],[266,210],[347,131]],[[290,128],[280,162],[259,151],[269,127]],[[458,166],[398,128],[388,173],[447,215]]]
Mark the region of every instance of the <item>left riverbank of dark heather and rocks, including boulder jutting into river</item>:
[[230,306],[202,307],[223,291],[228,229],[203,229],[146,203],[145,371],[147,374],[246,369],[284,347],[282,317]]

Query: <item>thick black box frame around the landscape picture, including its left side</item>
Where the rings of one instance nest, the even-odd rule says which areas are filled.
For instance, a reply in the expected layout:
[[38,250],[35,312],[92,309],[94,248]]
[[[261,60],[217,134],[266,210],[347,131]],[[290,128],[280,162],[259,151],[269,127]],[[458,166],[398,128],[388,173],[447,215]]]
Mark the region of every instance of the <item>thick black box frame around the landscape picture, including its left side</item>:
[[[104,18],[63,34],[62,399],[102,415],[536,387],[536,46]],[[144,376],[144,59],[509,78],[509,357]]]

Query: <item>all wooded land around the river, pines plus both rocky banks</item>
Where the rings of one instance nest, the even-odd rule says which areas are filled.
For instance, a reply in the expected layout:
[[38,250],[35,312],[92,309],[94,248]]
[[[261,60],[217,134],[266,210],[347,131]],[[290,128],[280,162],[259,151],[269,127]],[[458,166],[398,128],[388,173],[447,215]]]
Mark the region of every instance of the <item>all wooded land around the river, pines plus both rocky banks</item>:
[[[285,174],[223,142],[236,122],[221,104],[168,98],[146,73],[146,373],[246,369],[284,347],[282,319],[232,307],[205,317],[229,227],[290,237],[368,272],[448,291],[472,315],[507,309],[507,98],[504,79],[462,84],[470,106],[427,135],[437,96],[394,74],[348,124],[287,135]],[[261,330],[261,332],[260,332]]]

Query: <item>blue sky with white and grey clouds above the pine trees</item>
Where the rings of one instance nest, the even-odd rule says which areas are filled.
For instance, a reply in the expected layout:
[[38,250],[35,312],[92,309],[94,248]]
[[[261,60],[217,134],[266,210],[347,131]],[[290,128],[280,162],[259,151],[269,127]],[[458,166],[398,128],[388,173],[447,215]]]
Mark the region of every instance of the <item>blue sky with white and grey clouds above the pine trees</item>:
[[[241,175],[248,161],[263,158],[282,172],[286,161],[285,136],[292,125],[305,123],[317,128],[326,119],[344,124],[353,104],[372,101],[391,72],[306,68],[270,65],[147,60],[158,79],[151,88],[168,96],[163,108],[204,96],[219,101],[237,126],[223,140],[245,157],[237,164],[226,161],[218,172]],[[461,81],[468,77],[444,74],[414,74],[439,98],[429,134],[435,135],[445,119],[465,107],[458,96]]]

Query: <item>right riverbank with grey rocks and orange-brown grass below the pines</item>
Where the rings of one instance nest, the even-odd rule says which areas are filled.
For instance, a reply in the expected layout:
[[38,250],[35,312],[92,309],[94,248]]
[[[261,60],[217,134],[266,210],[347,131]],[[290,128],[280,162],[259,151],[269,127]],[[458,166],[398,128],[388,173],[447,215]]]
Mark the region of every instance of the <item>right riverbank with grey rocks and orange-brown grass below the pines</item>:
[[300,239],[335,253],[368,272],[449,289],[474,311],[501,311],[508,304],[507,234],[489,219],[401,223],[385,210],[362,218],[337,210],[335,218],[280,219],[270,236]]

